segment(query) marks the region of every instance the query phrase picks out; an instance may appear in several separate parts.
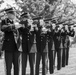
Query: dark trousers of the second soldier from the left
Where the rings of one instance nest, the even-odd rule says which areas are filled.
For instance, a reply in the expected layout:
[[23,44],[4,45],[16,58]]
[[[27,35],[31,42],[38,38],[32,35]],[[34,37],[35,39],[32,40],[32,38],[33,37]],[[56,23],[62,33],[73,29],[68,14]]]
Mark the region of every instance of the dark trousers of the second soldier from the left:
[[22,52],[22,75],[26,75],[27,57],[29,56],[30,75],[34,75],[34,57],[35,53],[23,53]]

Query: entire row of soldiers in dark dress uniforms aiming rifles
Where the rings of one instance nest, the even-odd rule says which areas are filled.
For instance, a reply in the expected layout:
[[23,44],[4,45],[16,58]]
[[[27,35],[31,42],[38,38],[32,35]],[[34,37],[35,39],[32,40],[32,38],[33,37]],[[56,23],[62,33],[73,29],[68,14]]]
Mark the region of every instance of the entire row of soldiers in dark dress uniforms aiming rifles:
[[[8,10],[11,9],[7,9],[6,11]],[[56,53],[57,70],[68,65],[69,36],[74,36],[75,32],[73,29],[69,29],[66,26],[61,27],[61,25],[58,27],[55,23],[47,24],[43,19],[34,19],[33,22],[27,13],[21,15],[21,21],[19,23],[16,23],[14,20],[15,14],[13,11],[7,12],[7,15],[8,18],[2,20],[1,23],[1,30],[5,33],[3,50],[5,50],[6,75],[11,75],[12,63],[14,65],[14,75],[19,75],[19,56],[21,50],[19,50],[18,46],[21,45],[21,75],[26,75],[28,56],[30,75],[39,75],[41,58],[42,75],[46,75],[47,73],[48,59],[49,72],[50,74],[54,73]]]

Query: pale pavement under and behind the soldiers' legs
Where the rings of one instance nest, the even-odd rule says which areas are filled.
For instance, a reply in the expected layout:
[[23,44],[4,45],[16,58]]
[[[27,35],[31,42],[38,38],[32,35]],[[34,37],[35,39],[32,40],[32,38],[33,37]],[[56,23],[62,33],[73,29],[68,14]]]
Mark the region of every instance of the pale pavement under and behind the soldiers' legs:
[[[0,59],[0,75],[5,75],[5,62],[4,62],[4,57]],[[40,75],[41,74],[41,67],[42,65],[40,64]],[[27,73],[26,75],[30,75],[30,68],[29,68],[29,62],[27,63]],[[12,75],[13,75],[13,69],[12,69]],[[20,65],[20,75],[21,75],[21,65]],[[57,70],[55,68],[54,74],[49,74],[49,71],[47,75],[76,75],[76,48],[70,48],[70,53],[69,53],[69,65],[62,68],[61,70]]]

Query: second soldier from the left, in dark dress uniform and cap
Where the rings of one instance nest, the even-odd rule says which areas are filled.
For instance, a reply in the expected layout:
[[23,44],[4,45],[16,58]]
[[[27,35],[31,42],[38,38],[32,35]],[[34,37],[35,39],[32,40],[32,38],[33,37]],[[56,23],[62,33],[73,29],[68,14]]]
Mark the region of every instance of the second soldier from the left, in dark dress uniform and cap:
[[[28,21],[27,13],[21,15],[21,24],[23,25],[19,31],[22,36],[22,75],[26,74],[27,57],[29,56],[30,75],[34,75],[34,60],[33,57],[36,53],[36,39],[35,30],[32,28]],[[30,21],[32,23],[32,20]]]

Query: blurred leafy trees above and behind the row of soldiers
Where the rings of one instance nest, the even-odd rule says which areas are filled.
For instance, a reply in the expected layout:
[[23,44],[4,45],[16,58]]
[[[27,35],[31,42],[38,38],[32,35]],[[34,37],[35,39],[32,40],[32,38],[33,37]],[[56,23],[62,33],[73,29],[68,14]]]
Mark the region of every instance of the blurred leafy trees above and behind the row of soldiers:
[[[2,5],[5,7],[2,8]],[[0,7],[1,11],[14,7],[17,16],[29,12],[32,18],[42,16],[54,18],[58,23],[76,24],[76,5],[71,0],[0,0]]]

